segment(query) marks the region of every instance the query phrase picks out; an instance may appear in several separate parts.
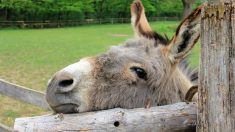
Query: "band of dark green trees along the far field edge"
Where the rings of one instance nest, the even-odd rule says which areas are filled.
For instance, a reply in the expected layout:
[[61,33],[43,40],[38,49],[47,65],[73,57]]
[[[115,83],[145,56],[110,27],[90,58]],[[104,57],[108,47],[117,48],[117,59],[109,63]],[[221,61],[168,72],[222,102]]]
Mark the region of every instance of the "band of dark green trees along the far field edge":
[[[129,18],[133,0],[0,0],[2,21]],[[184,2],[190,1],[185,6]],[[183,16],[202,0],[142,0],[148,17]],[[187,3],[186,3],[187,4]],[[189,11],[185,11],[186,13]]]

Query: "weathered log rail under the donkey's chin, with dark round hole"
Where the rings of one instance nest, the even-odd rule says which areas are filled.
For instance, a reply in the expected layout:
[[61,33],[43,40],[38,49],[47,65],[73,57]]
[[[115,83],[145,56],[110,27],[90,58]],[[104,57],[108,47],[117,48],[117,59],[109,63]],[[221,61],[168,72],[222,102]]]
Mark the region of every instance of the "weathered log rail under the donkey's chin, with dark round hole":
[[18,118],[19,132],[55,131],[196,131],[197,105],[177,103],[149,109],[110,109],[97,112]]

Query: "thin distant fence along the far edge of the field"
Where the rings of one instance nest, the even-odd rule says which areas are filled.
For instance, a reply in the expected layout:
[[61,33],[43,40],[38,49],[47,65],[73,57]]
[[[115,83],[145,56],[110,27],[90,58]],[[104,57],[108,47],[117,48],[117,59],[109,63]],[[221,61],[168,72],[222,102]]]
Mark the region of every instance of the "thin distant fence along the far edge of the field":
[[[179,17],[151,17],[149,21],[175,21]],[[0,21],[0,27],[18,27],[18,28],[55,28],[66,26],[78,26],[86,24],[116,24],[130,23],[130,18],[110,18],[110,19],[85,19],[84,21],[66,20],[66,21]]]

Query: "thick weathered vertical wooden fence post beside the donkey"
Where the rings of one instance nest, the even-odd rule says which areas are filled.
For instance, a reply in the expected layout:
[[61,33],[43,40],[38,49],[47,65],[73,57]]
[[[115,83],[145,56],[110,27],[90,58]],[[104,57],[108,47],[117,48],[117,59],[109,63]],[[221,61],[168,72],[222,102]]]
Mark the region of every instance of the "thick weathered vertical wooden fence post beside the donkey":
[[201,30],[197,129],[232,132],[235,130],[235,0],[209,0],[202,11]]

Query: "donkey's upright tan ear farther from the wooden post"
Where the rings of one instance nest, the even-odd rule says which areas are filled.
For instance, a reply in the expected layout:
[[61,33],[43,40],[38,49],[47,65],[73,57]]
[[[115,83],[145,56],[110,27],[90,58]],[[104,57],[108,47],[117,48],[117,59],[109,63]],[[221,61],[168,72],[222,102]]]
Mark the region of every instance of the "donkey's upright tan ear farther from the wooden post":
[[166,38],[162,37],[160,34],[154,32],[151,29],[141,0],[134,0],[134,2],[131,4],[131,24],[137,37],[155,39],[156,43],[167,43]]

